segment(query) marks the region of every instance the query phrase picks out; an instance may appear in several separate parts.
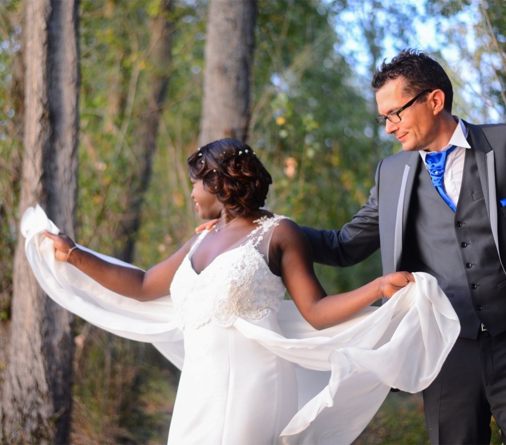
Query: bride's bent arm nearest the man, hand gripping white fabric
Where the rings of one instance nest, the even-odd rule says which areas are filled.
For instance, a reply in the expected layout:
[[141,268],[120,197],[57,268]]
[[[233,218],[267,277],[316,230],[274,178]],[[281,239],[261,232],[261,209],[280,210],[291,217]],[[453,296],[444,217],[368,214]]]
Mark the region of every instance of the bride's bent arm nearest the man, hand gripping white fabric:
[[365,286],[341,294],[328,295],[316,278],[311,246],[302,230],[283,220],[271,243],[279,251],[283,283],[303,317],[316,329],[342,323],[382,297],[390,298],[414,281],[408,272],[396,272],[376,278]]

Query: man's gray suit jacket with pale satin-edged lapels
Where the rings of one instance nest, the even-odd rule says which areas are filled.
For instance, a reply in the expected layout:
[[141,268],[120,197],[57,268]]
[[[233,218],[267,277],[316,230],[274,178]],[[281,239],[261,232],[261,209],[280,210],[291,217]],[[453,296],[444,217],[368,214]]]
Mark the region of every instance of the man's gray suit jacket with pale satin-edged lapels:
[[[475,150],[480,181],[495,245],[506,264],[506,124],[471,125],[468,142]],[[381,246],[383,272],[399,270],[417,152],[401,152],[383,159],[376,169],[369,200],[340,231],[303,228],[313,247],[314,260],[348,266],[362,261]]]

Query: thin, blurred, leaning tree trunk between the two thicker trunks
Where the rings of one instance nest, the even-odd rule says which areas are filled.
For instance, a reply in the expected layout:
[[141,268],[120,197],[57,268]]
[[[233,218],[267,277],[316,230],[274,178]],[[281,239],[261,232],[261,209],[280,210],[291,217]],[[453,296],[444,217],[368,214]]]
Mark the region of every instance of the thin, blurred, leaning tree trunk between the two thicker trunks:
[[151,179],[153,155],[156,150],[156,139],[161,119],[161,111],[167,96],[168,71],[171,63],[172,27],[168,13],[172,8],[172,0],[163,0],[159,12],[150,23],[150,44],[148,60],[152,70],[141,80],[148,85],[148,101],[139,113],[139,123],[134,137],[133,151],[136,154],[137,171],[131,172],[134,180],[130,183],[126,194],[128,213],[118,227],[116,238],[125,239],[126,243],[115,256],[123,261],[131,262],[137,232],[141,224],[141,207],[144,195]]

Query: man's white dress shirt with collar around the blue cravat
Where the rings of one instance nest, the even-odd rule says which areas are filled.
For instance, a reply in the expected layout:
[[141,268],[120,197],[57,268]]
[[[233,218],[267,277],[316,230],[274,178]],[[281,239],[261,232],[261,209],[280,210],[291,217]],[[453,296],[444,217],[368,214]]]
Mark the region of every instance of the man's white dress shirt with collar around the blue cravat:
[[[443,175],[443,184],[446,194],[451,199],[451,202],[457,206],[458,195],[460,194],[460,186],[462,185],[462,173],[464,171],[464,158],[466,156],[466,149],[471,148],[468,141],[468,129],[466,125],[458,118],[458,125],[450,138],[450,141],[441,151],[446,151],[453,145],[456,146],[448,157],[446,158],[446,165]],[[421,159],[424,161],[425,167],[427,168],[427,162],[425,157],[427,153],[434,153],[429,151],[419,151]]]

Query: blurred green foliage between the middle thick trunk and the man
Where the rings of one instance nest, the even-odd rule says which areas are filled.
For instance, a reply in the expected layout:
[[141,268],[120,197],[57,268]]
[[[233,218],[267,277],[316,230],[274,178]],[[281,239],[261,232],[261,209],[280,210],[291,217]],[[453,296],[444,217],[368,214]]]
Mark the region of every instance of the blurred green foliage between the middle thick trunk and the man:
[[[378,160],[392,152],[372,104],[350,82],[335,20],[320,2],[260,3],[250,138],[273,174],[270,208],[327,229],[360,209]],[[381,275],[376,255],[351,271],[317,269],[328,292]]]

